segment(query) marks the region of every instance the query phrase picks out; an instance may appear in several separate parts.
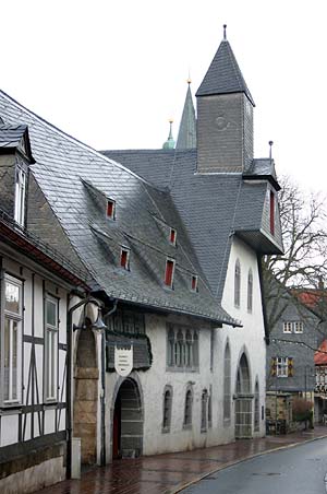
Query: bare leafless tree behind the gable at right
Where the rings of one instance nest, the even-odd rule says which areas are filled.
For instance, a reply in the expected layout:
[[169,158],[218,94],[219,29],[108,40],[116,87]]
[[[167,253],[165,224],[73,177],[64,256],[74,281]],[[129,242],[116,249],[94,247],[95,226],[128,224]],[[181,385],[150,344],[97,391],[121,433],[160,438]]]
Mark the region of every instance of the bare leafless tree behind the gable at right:
[[307,195],[290,178],[280,180],[279,209],[284,254],[263,260],[269,330],[290,301],[290,290],[310,290],[327,278],[326,199]]

